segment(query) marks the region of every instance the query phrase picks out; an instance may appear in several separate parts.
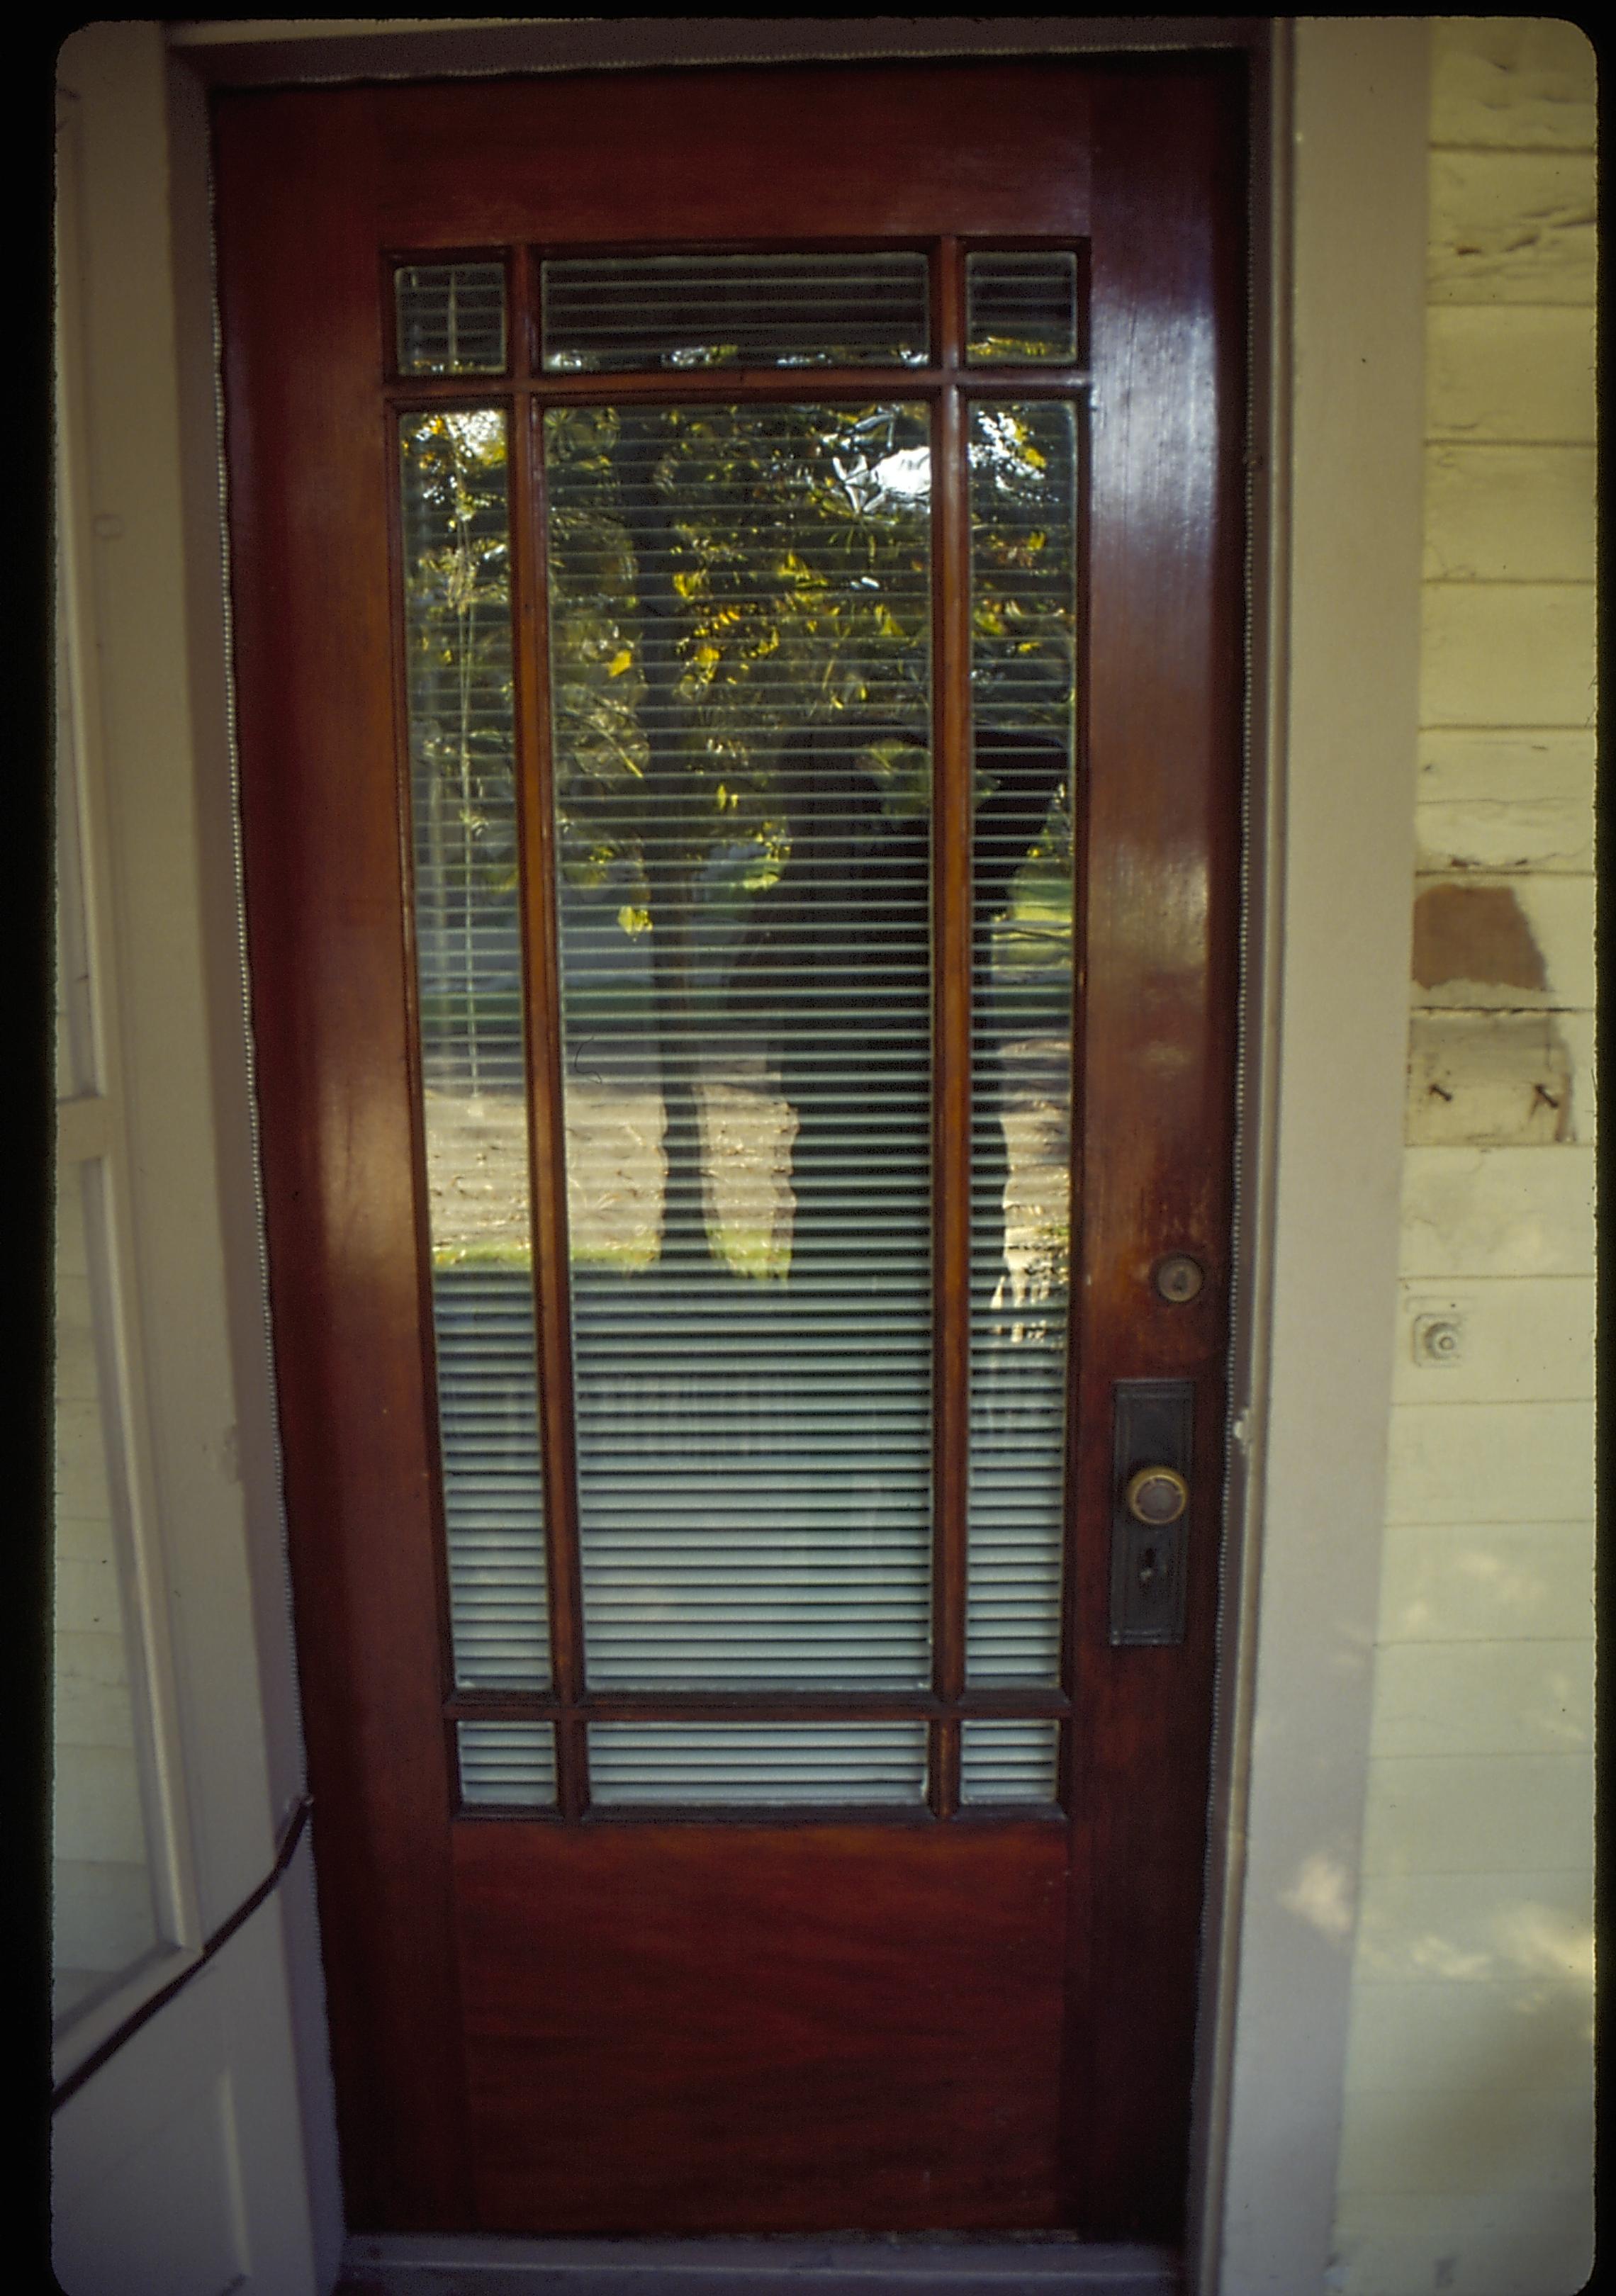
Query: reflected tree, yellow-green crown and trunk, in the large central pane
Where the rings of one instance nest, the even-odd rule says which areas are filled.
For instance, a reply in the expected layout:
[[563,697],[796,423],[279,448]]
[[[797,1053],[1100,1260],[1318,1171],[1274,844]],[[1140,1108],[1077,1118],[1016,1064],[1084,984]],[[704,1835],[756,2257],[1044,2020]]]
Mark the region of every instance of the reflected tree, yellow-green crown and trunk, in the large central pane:
[[673,1047],[721,1024],[712,930],[751,912],[755,944],[767,895],[813,875],[792,847],[815,728],[836,730],[854,806],[925,806],[925,413],[558,409],[546,473],[562,870],[611,879],[622,930],[650,930],[663,1261],[702,1258],[693,1070]]

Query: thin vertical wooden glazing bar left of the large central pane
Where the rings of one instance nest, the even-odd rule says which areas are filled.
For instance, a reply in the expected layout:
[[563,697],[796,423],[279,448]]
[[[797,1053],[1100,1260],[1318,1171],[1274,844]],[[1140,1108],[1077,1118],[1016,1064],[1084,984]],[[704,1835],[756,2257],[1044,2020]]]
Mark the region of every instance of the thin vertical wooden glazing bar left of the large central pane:
[[[530,266],[516,262],[526,282]],[[512,335],[528,365],[533,342],[526,296]],[[544,1442],[544,1543],[551,1612],[556,1793],[562,1818],[588,1805],[583,1697],[583,1600],[578,1476],[572,1421],[572,1300],[567,1256],[567,1127],[560,1075],[560,962],[556,900],[556,808],[549,693],[549,579],[544,523],[542,413],[521,393],[512,422],[512,590],[516,641],[516,808],[521,824],[521,921],[528,980],[528,1157],[533,1171],[533,1286],[539,1334],[539,1421]]]

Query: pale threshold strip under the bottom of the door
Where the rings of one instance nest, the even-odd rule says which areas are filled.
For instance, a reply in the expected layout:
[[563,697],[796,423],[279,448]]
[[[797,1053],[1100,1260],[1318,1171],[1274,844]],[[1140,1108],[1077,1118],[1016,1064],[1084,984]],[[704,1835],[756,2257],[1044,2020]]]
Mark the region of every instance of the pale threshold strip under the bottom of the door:
[[354,2236],[335,2296],[1178,2296],[1178,2255],[1067,2234],[519,2241]]

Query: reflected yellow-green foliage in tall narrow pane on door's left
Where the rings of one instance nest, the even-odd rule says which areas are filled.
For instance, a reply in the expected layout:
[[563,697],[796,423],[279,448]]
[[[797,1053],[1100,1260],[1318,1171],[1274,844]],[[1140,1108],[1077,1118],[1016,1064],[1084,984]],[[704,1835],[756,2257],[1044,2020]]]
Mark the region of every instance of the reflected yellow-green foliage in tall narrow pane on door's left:
[[489,1013],[477,957],[480,930],[505,921],[516,886],[505,418],[406,416],[399,443],[418,914],[434,969],[452,951],[457,974],[452,1010],[429,1006],[422,1035],[429,1058],[461,1052],[477,1093],[521,1075],[503,1075],[512,1052],[519,1063],[512,994],[510,1013]]

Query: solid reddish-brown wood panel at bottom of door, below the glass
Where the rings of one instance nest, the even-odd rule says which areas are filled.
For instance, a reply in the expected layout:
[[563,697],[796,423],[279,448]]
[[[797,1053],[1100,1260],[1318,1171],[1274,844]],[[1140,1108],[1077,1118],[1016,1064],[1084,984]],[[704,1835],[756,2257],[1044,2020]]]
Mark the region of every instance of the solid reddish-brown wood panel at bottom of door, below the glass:
[[1067,1832],[454,1828],[487,2232],[1060,2223]]

